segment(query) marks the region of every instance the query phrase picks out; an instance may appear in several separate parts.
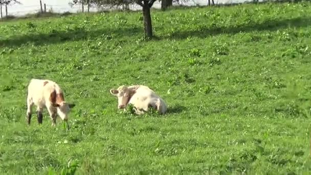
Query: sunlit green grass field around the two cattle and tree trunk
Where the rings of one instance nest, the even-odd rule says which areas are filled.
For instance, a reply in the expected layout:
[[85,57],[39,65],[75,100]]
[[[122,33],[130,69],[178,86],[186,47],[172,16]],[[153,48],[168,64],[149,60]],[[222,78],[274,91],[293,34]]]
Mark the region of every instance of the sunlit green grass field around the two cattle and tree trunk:
[[[311,3],[77,14],[0,23],[1,174],[308,174]],[[26,123],[31,78],[76,104]],[[109,93],[144,84],[164,116]],[[34,108],[35,110],[35,108]]]

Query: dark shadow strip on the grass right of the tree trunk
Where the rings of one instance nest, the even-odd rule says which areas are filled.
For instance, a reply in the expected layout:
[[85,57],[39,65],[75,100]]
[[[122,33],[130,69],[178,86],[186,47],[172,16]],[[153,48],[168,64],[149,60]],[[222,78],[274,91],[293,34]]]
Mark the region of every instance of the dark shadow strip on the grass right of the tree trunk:
[[236,34],[239,32],[252,32],[252,31],[276,31],[288,27],[307,27],[311,26],[310,17],[296,17],[292,19],[270,19],[262,23],[250,23],[242,26],[229,26],[229,27],[207,27],[203,26],[200,29],[177,31],[167,36],[169,39],[186,39],[189,36],[205,38],[210,35],[218,34]]

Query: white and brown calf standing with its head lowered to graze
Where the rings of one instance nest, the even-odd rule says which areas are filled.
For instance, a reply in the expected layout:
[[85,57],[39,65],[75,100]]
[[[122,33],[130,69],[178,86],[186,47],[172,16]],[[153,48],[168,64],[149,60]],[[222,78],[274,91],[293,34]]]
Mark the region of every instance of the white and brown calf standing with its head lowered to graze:
[[52,119],[52,126],[56,125],[57,114],[68,124],[68,113],[74,104],[64,101],[64,94],[59,85],[51,80],[31,79],[28,85],[27,117],[30,125],[32,106],[37,106],[38,123],[42,124],[43,107],[47,107]]

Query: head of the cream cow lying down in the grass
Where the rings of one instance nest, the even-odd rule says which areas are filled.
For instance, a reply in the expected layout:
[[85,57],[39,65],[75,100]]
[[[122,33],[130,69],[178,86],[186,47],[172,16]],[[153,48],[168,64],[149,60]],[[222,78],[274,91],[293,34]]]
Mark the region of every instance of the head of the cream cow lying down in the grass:
[[118,97],[118,108],[125,108],[130,98],[135,94],[136,90],[128,89],[127,86],[120,86],[117,90],[111,89],[110,93]]

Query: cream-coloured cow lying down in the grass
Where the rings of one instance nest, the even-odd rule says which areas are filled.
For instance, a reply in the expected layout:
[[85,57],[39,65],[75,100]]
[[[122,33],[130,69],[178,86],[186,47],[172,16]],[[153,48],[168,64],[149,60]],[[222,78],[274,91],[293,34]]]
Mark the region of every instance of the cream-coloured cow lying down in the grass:
[[118,97],[118,108],[122,109],[132,104],[136,107],[136,114],[144,114],[149,107],[156,109],[160,114],[167,111],[165,101],[144,85],[119,86],[117,90],[111,89],[110,93]]

